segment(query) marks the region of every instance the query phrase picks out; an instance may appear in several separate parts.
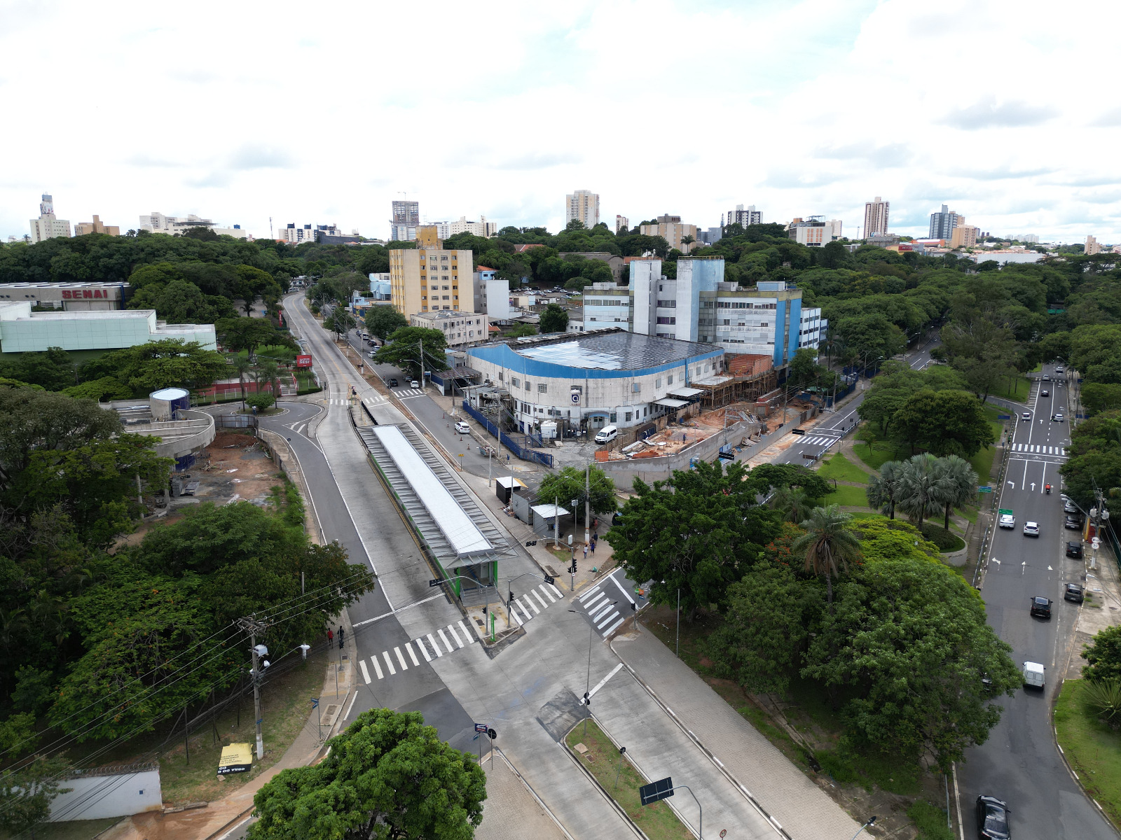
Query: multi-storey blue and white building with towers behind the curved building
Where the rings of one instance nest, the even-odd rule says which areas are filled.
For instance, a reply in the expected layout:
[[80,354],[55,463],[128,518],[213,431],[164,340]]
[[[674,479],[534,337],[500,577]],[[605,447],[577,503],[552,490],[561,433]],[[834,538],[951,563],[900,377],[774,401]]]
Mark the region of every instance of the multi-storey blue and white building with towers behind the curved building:
[[770,356],[788,364],[799,347],[817,348],[827,326],[822,310],[802,307],[802,290],[781,281],[753,288],[724,281],[723,258],[682,258],[677,278],[661,260],[632,260],[624,287],[593,283],[584,290],[584,332],[620,327],[685,342],[717,344],[730,353]]

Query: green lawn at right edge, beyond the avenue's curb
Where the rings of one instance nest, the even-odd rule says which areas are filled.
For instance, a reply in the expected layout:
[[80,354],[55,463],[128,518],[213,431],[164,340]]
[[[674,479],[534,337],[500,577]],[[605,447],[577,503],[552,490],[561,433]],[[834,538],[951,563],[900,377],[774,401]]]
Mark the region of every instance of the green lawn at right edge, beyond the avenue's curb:
[[1055,728],[1066,759],[1114,824],[1121,823],[1121,732],[1097,719],[1084,698],[1085,680],[1065,680]]

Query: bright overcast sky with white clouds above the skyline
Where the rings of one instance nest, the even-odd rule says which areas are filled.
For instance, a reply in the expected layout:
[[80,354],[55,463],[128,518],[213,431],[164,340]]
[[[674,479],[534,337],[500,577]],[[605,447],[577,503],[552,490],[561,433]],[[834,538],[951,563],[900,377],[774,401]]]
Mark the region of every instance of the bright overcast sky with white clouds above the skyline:
[[121,230],[196,213],[614,227],[948,204],[995,235],[1121,242],[1121,3],[0,1],[0,236],[40,193]]

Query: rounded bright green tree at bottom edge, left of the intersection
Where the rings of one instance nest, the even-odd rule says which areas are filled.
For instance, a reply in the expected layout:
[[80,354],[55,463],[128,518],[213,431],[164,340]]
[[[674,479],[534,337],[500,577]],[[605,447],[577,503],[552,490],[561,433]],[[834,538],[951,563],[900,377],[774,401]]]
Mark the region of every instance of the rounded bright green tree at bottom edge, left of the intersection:
[[253,796],[248,840],[471,840],[487,776],[424,725],[371,709],[331,739],[327,757],[281,771]]

